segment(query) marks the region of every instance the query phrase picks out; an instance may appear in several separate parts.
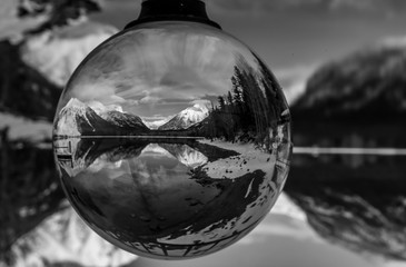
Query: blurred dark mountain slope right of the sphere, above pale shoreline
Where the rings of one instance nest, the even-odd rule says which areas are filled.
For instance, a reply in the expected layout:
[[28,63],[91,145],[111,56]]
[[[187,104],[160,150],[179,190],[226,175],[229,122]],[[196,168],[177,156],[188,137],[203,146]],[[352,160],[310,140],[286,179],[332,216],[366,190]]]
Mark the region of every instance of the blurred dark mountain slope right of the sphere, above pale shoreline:
[[406,46],[379,46],[321,67],[293,105],[297,123],[398,121],[406,115]]

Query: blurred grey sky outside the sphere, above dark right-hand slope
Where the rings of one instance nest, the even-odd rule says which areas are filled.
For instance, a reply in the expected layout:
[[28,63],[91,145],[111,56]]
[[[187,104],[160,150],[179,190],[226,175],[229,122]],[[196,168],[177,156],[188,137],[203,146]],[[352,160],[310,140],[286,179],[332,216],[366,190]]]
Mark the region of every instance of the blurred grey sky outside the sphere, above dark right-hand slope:
[[[209,17],[271,68],[288,99],[320,65],[387,38],[406,36],[404,0],[206,0]],[[140,0],[106,0],[93,19],[119,29]]]

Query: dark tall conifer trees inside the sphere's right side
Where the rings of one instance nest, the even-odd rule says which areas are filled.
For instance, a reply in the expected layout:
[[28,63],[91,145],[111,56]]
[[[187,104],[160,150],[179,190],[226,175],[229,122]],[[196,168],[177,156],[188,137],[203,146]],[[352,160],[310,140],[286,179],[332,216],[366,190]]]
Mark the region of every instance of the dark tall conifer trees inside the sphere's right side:
[[259,71],[239,57],[234,67],[231,89],[218,97],[218,105],[212,106],[206,129],[200,135],[259,141],[285,121],[281,113],[287,103],[280,87],[266,66],[259,59],[257,61]]

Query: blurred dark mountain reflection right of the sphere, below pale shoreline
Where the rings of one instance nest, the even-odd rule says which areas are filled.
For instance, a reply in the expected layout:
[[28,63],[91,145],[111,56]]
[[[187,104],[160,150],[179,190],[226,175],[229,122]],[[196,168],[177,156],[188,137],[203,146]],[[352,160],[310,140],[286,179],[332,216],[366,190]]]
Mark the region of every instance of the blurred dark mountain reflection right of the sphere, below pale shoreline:
[[353,158],[358,164],[297,157],[285,190],[318,234],[358,253],[406,260],[404,157]]

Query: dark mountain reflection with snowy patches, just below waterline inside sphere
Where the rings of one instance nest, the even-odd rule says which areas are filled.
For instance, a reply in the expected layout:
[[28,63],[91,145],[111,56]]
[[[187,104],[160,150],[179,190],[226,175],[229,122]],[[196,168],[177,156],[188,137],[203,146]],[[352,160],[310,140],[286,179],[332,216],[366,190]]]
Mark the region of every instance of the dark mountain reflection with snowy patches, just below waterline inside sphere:
[[[101,156],[110,162],[137,158],[149,144],[156,142],[159,142],[159,148],[188,166],[238,155],[232,150],[200,144],[195,139],[181,138],[67,138],[56,140],[55,147],[61,167],[73,168],[75,166],[85,169]],[[69,147],[70,149],[67,149]]]

